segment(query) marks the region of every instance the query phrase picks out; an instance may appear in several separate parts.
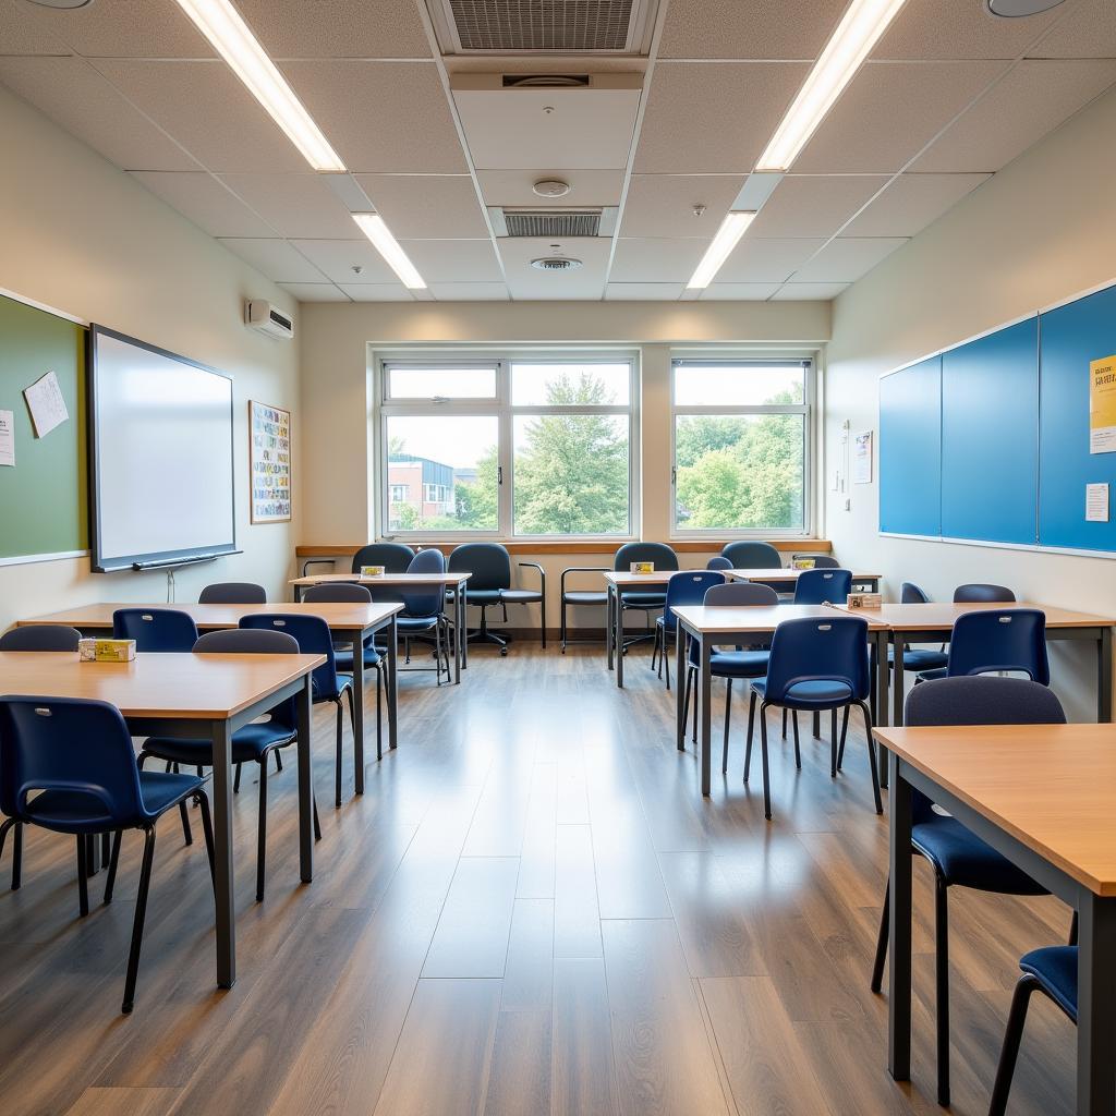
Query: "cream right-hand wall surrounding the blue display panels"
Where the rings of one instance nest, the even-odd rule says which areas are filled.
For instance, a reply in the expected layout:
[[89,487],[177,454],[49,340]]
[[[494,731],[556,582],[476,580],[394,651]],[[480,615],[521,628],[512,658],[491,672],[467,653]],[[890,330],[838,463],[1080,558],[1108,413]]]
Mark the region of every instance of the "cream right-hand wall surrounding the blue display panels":
[[[1094,102],[834,304],[827,350],[826,446],[840,424],[878,430],[881,374],[1004,321],[1116,279],[1116,92]],[[1085,369],[1083,369],[1085,375]],[[912,462],[917,469],[917,462]],[[828,488],[828,485],[827,485]],[[878,535],[876,483],[827,492],[825,531],[886,588],[920,584],[949,599],[962,581],[1011,586],[1020,599],[1116,615],[1116,562]],[[1094,712],[1091,660],[1059,648],[1056,686],[1077,718]]]

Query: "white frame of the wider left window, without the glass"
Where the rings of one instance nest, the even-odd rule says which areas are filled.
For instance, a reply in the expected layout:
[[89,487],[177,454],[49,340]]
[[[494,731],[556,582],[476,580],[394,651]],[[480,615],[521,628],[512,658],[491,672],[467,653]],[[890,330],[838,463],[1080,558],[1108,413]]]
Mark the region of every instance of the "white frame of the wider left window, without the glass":
[[[591,349],[577,348],[531,348],[502,349],[499,352],[469,352],[460,349],[425,350],[407,349],[376,354],[374,364],[377,389],[374,414],[374,430],[379,444],[375,454],[373,482],[376,485],[375,509],[377,517],[377,536],[379,538],[400,539],[401,541],[419,541],[430,539],[432,535],[448,536],[453,539],[507,539],[517,542],[626,542],[638,538],[639,532],[639,353],[632,348],[608,349],[598,346]],[[511,402],[511,366],[523,364],[627,364],[628,365],[628,402],[627,404],[574,405],[574,406],[513,406]],[[488,398],[393,398],[388,395],[388,369],[398,365],[413,365],[424,368],[470,368],[496,367],[496,394]],[[514,462],[514,421],[523,415],[559,415],[559,414],[609,414],[626,415],[628,420],[628,523],[627,529],[608,535],[517,535],[513,520],[513,497],[516,491]],[[387,478],[387,424],[393,417],[435,417],[460,415],[462,417],[496,417],[498,433],[497,465],[499,469],[498,517],[494,530],[453,530],[443,528],[432,531],[430,528],[419,528],[408,531],[388,531],[389,523],[389,485]]]

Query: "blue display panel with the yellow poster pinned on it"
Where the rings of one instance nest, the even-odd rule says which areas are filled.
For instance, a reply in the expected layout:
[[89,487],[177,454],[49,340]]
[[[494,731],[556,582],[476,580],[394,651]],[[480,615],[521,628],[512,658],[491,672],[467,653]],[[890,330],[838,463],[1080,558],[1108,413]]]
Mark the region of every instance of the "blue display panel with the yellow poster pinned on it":
[[[1116,485],[1116,453],[1089,453],[1089,362],[1114,353],[1114,287],[1040,318],[1039,541],[1043,546],[1116,550],[1116,522],[1085,521],[1085,485]],[[1116,492],[1110,494],[1116,498]]]

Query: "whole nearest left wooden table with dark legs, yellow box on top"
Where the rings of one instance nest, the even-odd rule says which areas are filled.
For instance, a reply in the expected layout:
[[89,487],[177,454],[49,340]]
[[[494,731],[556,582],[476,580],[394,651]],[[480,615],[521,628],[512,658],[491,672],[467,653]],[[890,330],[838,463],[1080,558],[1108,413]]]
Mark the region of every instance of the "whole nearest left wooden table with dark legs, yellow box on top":
[[217,982],[237,980],[232,868],[232,734],[294,698],[298,711],[298,847],[314,878],[310,672],[321,655],[143,654],[131,663],[81,663],[71,652],[0,652],[0,693],[83,698],[115,705],[135,735],[208,739],[213,748]]

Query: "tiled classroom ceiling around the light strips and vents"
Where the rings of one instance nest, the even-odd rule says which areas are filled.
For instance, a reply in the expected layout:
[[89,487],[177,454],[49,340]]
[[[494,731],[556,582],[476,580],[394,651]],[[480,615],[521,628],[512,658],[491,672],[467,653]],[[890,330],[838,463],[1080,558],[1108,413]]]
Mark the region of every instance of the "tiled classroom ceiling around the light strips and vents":
[[[580,0],[593,26],[556,28],[503,17],[561,0],[235,2],[429,290],[174,0],[0,0],[0,84],[304,301],[699,297],[686,280],[847,4]],[[522,52],[556,33],[596,49]],[[591,83],[504,87],[545,74]],[[1114,83],[1113,0],[1014,20],[907,0],[700,297],[833,298]],[[570,192],[546,201],[542,179]],[[602,234],[501,234],[506,208],[548,206],[603,209]],[[550,254],[583,266],[530,267]]]

